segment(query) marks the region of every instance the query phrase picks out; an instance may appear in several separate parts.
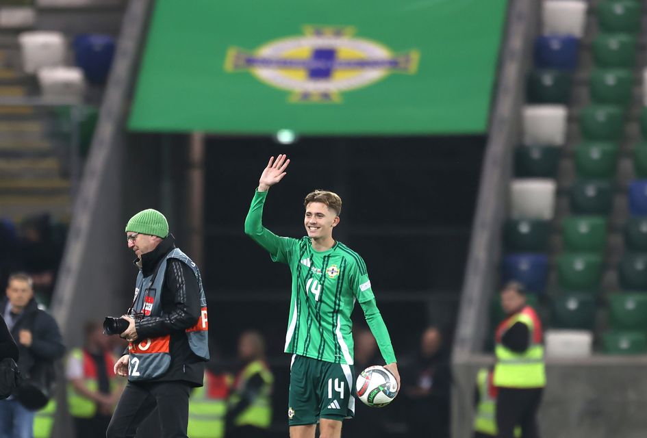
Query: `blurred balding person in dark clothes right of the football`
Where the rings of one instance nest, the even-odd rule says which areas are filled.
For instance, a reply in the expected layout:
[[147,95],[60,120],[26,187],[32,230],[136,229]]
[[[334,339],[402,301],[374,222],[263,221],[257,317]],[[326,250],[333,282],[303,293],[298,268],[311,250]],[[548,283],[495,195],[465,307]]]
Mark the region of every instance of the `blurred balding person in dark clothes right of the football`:
[[412,437],[448,437],[451,372],[442,335],[435,326],[422,332],[420,350],[407,367],[407,417]]

